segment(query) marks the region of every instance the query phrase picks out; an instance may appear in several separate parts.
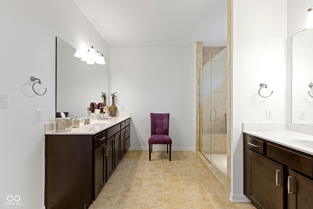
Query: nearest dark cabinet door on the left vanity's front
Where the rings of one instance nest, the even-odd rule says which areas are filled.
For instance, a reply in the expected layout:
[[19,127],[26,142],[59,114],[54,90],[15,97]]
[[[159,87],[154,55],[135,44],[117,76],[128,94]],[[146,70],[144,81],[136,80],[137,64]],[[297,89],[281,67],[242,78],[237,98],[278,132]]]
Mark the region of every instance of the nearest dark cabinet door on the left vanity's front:
[[95,200],[106,184],[106,143],[94,149],[94,196]]

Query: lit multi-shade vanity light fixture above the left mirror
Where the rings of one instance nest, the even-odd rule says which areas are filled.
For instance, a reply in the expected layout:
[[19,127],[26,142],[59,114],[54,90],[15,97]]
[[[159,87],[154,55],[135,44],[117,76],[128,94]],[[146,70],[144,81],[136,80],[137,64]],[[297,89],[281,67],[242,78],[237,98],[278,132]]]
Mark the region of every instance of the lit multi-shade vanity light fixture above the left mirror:
[[101,65],[105,65],[104,55],[99,50],[95,50],[93,46],[89,48],[87,53],[76,50],[75,57],[81,58],[82,61],[87,62],[89,65],[93,65],[95,62]]

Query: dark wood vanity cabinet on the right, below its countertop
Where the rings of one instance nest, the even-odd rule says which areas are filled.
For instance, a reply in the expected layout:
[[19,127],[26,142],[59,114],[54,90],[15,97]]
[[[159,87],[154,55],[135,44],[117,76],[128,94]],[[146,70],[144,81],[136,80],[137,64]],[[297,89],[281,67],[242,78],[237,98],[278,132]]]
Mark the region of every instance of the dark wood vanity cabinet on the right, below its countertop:
[[258,209],[313,208],[313,156],[244,134],[244,194]]

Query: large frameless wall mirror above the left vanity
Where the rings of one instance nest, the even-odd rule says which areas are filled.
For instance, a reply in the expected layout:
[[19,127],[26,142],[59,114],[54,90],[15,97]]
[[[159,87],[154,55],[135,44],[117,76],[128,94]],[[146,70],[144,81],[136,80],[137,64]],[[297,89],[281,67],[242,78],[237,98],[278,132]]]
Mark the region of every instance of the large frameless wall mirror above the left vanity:
[[68,116],[87,116],[90,102],[102,102],[101,92],[108,93],[109,72],[74,57],[76,49],[56,38],[56,112]]

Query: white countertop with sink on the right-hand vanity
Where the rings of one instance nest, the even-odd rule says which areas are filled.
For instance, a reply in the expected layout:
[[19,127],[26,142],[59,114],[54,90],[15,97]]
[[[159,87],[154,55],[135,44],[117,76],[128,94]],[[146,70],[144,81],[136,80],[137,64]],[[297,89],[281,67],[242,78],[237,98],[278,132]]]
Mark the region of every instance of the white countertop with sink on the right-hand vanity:
[[[255,124],[254,124],[255,125]],[[268,126],[268,124],[266,124]],[[299,151],[302,151],[304,153],[308,153],[310,155],[313,155],[313,136],[308,134],[303,134],[299,132],[294,132],[288,130],[288,127],[290,125],[285,126],[278,126],[275,128],[272,128],[273,130],[266,130],[262,127],[259,128],[253,128],[252,130],[249,130],[251,127],[249,124],[244,124],[244,133],[250,134],[255,137],[259,137],[262,139],[266,139],[268,141],[272,141],[277,144],[284,145],[286,147],[290,147],[292,149],[296,149]],[[285,127],[285,128],[282,128]],[[287,128],[286,128],[287,127]]]

